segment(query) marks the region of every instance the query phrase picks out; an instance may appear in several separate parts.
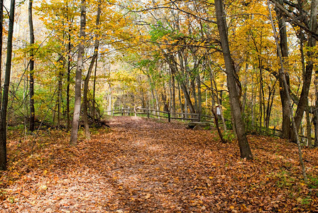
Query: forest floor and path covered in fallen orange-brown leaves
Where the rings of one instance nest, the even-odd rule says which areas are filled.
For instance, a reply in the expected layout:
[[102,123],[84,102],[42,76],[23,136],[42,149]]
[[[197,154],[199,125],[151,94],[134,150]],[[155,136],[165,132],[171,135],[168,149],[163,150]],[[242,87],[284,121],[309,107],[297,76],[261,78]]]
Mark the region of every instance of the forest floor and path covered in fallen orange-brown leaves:
[[318,212],[318,150],[248,136],[254,160],[213,131],[141,117],[69,146],[69,133],[9,131],[0,212]]

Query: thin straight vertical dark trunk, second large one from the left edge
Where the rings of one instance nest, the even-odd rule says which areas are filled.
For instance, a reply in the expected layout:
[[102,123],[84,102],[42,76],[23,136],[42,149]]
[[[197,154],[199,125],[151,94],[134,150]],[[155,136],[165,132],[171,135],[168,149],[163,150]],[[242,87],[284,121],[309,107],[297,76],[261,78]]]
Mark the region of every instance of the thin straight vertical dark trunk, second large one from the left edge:
[[33,19],[32,19],[32,3],[33,0],[28,1],[28,25],[30,28],[30,125],[29,131],[34,131],[34,120],[35,120],[35,109],[34,109],[34,30],[33,30]]

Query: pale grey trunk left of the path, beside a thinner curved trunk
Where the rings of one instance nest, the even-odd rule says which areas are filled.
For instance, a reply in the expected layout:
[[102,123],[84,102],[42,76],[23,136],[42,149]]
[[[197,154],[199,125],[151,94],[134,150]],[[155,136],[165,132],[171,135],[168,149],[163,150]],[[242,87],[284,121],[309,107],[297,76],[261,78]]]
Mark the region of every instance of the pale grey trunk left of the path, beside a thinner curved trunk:
[[79,29],[79,38],[81,38],[78,45],[78,56],[77,56],[77,70],[75,76],[75,104],[74,114],[72,120],[72,132],[70,138],[70,144],[76,146],[77,144],[77,133],[79,126],[79,114],[81,112],[81,80],[83,70],[83,55],[84,55],[84,39],[85,39],[85,26],[86,26],[86,1],[81,1],[81,27]]

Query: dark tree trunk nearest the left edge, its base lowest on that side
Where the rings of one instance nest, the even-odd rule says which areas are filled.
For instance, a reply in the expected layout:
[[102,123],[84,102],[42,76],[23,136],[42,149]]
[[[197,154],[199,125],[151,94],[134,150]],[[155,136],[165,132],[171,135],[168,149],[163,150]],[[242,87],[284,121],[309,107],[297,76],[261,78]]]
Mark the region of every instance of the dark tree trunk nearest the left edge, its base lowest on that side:
[[12,40],[13,40],[13,23],[15,0],[11,0],[8,41],[6,45],[6,72],[4,76],[4,94],[1,103],[1,118],[0,118],[0,170],[6,170],[6,110],[8,108],[9,85],[11,75],[12,61]]

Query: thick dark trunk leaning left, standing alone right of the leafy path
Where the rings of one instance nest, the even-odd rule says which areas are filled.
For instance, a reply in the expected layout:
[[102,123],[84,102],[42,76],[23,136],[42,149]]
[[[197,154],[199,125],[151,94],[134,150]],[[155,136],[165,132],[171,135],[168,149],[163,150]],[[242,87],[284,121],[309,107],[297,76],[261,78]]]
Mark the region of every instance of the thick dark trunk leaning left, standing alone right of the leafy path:
[[229,49],[229,39],[226,28],[226,19],[223,11],[223,1],[215,1],[216,21],[219,29],[219,35],[221,40],[221,48],[224,56],[224,62],[226,67],[226,82],[229,88],[229,97],[231,103],[231,111],[233,111],[234,124],[236,126],[236,134],[238,137],[238,145],[240,148],[241,158],[252,159],[251,149],[248,145],[246,138],[245,126],[241,116],[241,106],[238,99],[238,91],[236,89],[236,80],[234,73],[234,62],[231,58]]

